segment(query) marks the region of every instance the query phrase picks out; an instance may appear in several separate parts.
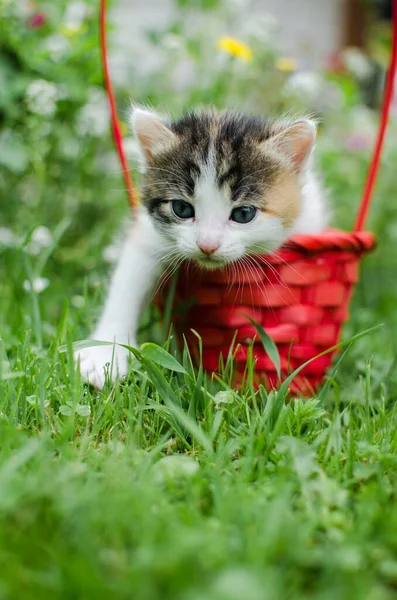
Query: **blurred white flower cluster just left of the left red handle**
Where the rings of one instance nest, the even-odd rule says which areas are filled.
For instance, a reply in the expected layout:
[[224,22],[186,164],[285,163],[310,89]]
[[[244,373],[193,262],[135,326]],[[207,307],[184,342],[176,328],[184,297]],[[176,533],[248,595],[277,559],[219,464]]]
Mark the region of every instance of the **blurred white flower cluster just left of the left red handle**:
[[81,135],[101,137],[109,127],[109,110],[106,94],[101,88],[91,88],[88,102],[77,115],[77,130]]

